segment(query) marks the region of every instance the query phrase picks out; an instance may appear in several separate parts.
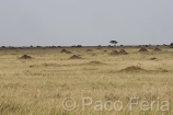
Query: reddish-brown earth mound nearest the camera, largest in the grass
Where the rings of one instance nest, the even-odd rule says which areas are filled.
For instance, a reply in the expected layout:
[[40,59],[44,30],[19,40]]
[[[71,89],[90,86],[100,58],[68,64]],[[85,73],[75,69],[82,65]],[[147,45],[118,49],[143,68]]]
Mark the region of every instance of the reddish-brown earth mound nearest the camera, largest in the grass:
[[125,69],[122,69],[119,70],[120,72],[141,72],[141,71],[146,71],[139,67],[135,67],[135,66],[131,66],[131,67],[127,67]]

